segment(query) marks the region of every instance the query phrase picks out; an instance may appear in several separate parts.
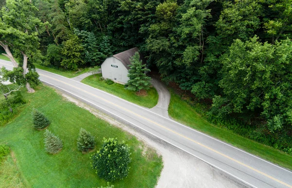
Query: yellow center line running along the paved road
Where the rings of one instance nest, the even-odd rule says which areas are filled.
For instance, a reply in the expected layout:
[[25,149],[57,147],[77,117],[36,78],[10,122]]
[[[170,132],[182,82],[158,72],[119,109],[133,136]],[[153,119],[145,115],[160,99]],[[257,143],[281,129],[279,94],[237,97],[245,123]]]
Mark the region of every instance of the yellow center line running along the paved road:
[[[70,84],[68,84],[68,83],[66,83],[66,82],[60,81],[60,80],[55,79],[55,78],[52,78],[52,77],[50,77],[50,76],[46,76],[46,75],[43,75],[43,74],[40,74],[40,75],[45,76],[45,77],[48,77],[48,78],[51,78],[51,79],[56,80],[56,81],[58,81],[58,82],[61,82],[61,83],[63,83],[63,84],[70,85]],[[76,89],[79,89],[79,90],[81,90],[81,91],[83,91],[83,92],[85,92],[85,93],[88,93],[88,94],[90,94],[90,95],[92,95],[92,96],[94,96],[94,97],[96,97],[96,98],[98,98],[98,99],[101,99],[101,100],[103,100],[103,101],[105,101],[105,102],[107,102],[107,103],[110,103],[110,104],[112,104],[112,105],[114,105],[114,106],[117,106],[117,107],[119,107],[119,108],[121,108],[121,109],[123,109],[123,110],[125,110],[125,111],[127,111],[127,112],[129,112],[129,113],[131,113],[131,114],[133,114],[133,115],[135,115],[135,116],[137,116],[137,117],[139,117],[139,118],[142,118],[142,119],[144,119],[144,120],[147,120],[147,121],[149,121],[149,122],[151,122],[151,123],[153,123],[153,124],[155,124],[155,125],[158,125],[159,127],[163,128],[163,129],[165,129],[165,130],[167,130],[167,131],[170,131],[170,132],[172,132],[172,133],[174,133],[174,134],[176,134],[176,135],[178,135],[178,136],[180,136],[180,137],[183,137],[183,138],[185,138],[185,139],[187,139],[187,140],[190,140],[191,142],[194,142],[194,143],[196,143],[196,144],[198,144],[198,145],[200,145],[200,146],[202,146],[202,147],[204,147],[204,148],[206,148],[206,149],[208,149],[208,150],[211,150],[211,151],[215,152],[216,154],[219,154],[219,155],[221,155],[221,156],[224,156],[224,157],[226,157],[226,158],[228,158],[228,159],[230,159],[230,160],[232,160],[232,161],[234,161],[234,162],[236,162],[236,163],[238,163],[238,164],[240,164],[240,165],[242,165],[242,166],[244,166],[244,167],[247,167],[247,168],[249,168],[249,169],[251,169],[251,170],[253,170],[253,171],[256,171],[256,172],[258,172],[258,173],[260,173],[260,174],[262,174],[262,175],[264,175],[264,176],[266,176],[266,177],[268,177],[268,178],[270,178],[270,179],[273,179],[274,181],[276,181],[276,182],[278,182],[278,183],[280,183],[280,184],[283,184],[283,185],[285,185],[285,186],[287,186],[287,187],[289,187],[289,188],[292,188],[291,185],[288,185],[288,184],[286,184],[285,182],[282,182],[282,181],[280,181],[280,180],[278,180],[278,179],[276,179],[276,178],[274,178],[274,177],[272,177],[272,176],[270,176],[270,175],[268,175],[268,174],[266,174],[266,173],[264,173],[264,172],[261,172],[261,171],[259,171],[259,170],[256,170],[256,169],[254,169],[253,167],[248,166],[248,165],[246,165],[246,164],[244,164],[244,163],[242,163],[242,162],[240,162],[240,161],[237,161],[236,159],[234,159],[234,158],[232,158],[232,157],[230,157],[230,156],[228,156],[228,155],[222,154],[222,153],[220,153],[220,152],[218,152],[218,151],[216,151],[216,150],[214,150],[214,149],[212,149],[212,148],[209,148],[208,146],[205,146],[205,145],[201,144],[200,142],[197,142],[197,141],[195,141],[195,140],[193,140],[193,139],[191,139],[191,138],[189,138],[189,137],[186,137],[186,136],[184,136],[184,135],[182,135],[182,134],[180,134],[180,133],[177,133],[177,132],[175,132],[175,131],[173,131],[173,130],[171,130],[171,129],[169,129],[169,128],[167,128],[167,127],[165,127],[165,126],[163,126],[163,125],[161,125],[161,124],[159,124],[159,123],[157,123],[157,122],[155,122],[155,121],[149,120],[149,119],[147,119],[147,118],[145,118],[145,117],[143,117],[143,116],[141,116],[141,115],[139,115],[139,114],[136,114],[135,112],[132,112],[132,111],[128,110],[127,108],[124,108],[124,107],[119,106],[119,105],[117,105],[117,104],[115,104],[115,103],[112,103],[112,102],[110,102],[110,101],[108,101],[108,100],[106,100],[106,99],[104,99],[104,98],[102,98],[102,97],[99,97],[99,96],[97,96],[97,95],[94,95],[94,94],[92,94],[91,92],[88,92],[88,91],[86,91],[86,90],[83,90],[83,89],[81,89],[81,88],[79,88],[79,87],[76,87],[76,86],[74,86],[74,85],[70,85],[70,86],[72,86],[72,87],[74,87],[74,88],[76,88]]]

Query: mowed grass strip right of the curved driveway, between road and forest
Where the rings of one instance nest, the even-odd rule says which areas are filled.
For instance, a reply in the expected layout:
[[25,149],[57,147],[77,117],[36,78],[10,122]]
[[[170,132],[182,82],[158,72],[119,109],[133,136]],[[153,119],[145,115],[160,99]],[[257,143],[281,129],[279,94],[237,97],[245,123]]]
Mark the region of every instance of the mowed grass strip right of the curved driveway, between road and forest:
[[191,105],[183,101],[179,95],[175,94],[173,90],[170,90],[170,93],[171,99],[168,113],[174,120],[292,170],[292,155],[212,125],[203,119]]

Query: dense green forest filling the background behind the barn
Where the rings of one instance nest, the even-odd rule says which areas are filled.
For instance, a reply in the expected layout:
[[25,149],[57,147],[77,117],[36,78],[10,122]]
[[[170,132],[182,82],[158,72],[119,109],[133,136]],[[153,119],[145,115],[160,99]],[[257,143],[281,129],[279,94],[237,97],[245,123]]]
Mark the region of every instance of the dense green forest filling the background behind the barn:
[[26,54],[29,68],[78,70],[139,47],[166,84],[209,106],[210,121],[292,154],[292,0],[6,0],[0,6],[1,46],[18,58]]

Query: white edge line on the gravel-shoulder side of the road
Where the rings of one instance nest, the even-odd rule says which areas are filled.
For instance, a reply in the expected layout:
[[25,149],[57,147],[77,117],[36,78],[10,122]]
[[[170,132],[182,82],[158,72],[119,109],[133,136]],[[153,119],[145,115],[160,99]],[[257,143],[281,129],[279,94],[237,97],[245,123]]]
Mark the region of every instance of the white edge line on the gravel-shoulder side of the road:
[[195,154],[191,154],[190,152],[184,150],[183,148],[181,148],[181,147],[179,147],[179,146],[177,146],[177,145],[175,145],[175,144],[170,143],[169,141],[165,140],[164,138],[159,137],[159,136],[157,136],[157,135],[155,135],[155,134],[153,134],[153,133],[151,133],[151,132],[149,132],[149,131],[143,129],[142,127],[140,127],[140,126],[138,126],[138,125],[136,125],[136,124],[134,124],[134,123],[131,123],[131,122],[129,122],[128,120],[125,120],[124,118],[122,118],[122,117],[120,117],[120,116],[118,116],[118,115],[115,115],[114,113],[110,112],[109,110],[104,109],[103,107],[100,107],[100,106],[97,105],[97,104],[94,104],[94,103],[92,103],[92,102],[90,102],[90,101],[88,101],[88,100],[86,100],[86,99],[84,99],[84,98],[82,98],[82,97],[79,97],[78,95],[73,94],[73,93],[71,93],[70,91],[67,91],[66,89],[62,89],[61,87],[58,87],[58,86],[56,86],[56,85],[54,85],[54,84],[50,84],[50,83],[45,82],[45,81],[42,81],[42,82],[47,83],[47,84],[49,84],[49,85],[53,85],[53,86],[55,86],[55,87],[57,87],[57,88],[59,88],[59,89],[65,91],[65,92],[70,93],[71,95],[73,95],[73,96],[75,96],[75,97],[77,97],[77,98],[79,98],[79,99],[82,99],[82,100],[86,101],[87,103],[91,103],[92,105],[97,106],[98,108],[100,108],[100,109],[102,109],[102,110],[104,110],[104,111],[106,111],[106,112],[112,114],[113,116],[116,116],[116,117],[118,117],[118,118],[120,118],[120,119],[122,119],[122,120],[124,120],[124,121],[127,121],[128,123],[130,123],[130,124],[132,124],[132,125],[138,127],[139,129],[142,129],[142,130],[145,131],[146,133],[148,133],[148,134],[150,134],[150,135],[153,135],[154,137],[158,137],[159,139],[163,140],[164,142],[166,142],[166,143],[168,143],[168,144],[170,144],[170,145],[172,145],[172,146],[174,146],[174,147],[176,147],[176,148],[178,148],[178,149],[180,149],[180,150],[182,150],[182,151],[184,151],[184,152],[186,152],[186,153],[188,153],[188,154],[190,154],[190,155],[195,156],[196,158],[200,159],[201,161],[207,163],[208,165],[210,165],[210,166],[212,166],[212,167],[215,167],[215,168],[219,169],[220,171],[223,171],[223,172],[225,172],[225,173],[231,175],[232,177],[236,178],[237,180],[241,181],[242,183],[245,183],[245,184],[247,184],[247,185],[249,185],[249,186],[251,186],[251,187],[253,187],[253,188],[257,188],[256,186],[254,186],[254,185],[252,185],[252,184],[250,184],[250,183],[248,183],[248,182],[246,182],[246,181],[244,181],[244,180],[238,178],[237,176],[235,176],[235,175],[233,175],[233,174],[231,174],[231,173],[229,173],[229,172],[227,172],[227,171],[224,171],[223,169],[217,167],[216,165],[213,165],[213,164],[211,164],[210,162],[205,161],[204,159],[198,157],[197,155],[195,155]]

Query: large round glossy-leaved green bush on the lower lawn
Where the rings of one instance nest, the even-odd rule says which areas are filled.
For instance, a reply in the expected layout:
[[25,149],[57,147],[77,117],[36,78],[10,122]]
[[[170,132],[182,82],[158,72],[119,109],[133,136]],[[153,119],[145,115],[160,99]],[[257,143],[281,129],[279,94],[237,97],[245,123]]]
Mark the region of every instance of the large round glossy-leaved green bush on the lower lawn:
[[131,162],[128,145],[119,144],[117,138],[104,138],[103,142],[102,148],[91,155],[92,168],[100,178],[107,181],[127,177]]

